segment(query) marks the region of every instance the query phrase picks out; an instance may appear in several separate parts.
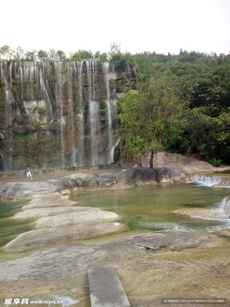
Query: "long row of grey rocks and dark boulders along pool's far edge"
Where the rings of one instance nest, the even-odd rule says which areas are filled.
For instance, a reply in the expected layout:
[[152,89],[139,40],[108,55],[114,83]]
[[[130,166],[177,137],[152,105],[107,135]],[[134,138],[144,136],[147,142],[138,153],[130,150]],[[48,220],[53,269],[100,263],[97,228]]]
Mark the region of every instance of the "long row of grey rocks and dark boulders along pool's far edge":
[[163,167],[157,172],[138,167],[124,169],[120,173],[76,173],[59,180],[13,182],[0,187],[0,196],[13,199],[32,199],[61,196],[84,189],[122,188],[168,182],[185,182],[190,178],[182,171]]

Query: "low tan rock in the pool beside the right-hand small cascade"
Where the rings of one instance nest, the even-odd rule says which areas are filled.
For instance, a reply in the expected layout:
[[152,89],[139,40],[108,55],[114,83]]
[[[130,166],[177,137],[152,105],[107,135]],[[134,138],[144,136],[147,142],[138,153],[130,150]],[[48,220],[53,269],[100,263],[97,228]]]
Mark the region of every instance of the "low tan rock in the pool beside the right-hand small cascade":
[[208,219],[219,219],[225,220],[228,217],[218,209],[207,209],[207,208],[186,208],[172,211],[171,213],[186,215],[186,216],[198,216]]

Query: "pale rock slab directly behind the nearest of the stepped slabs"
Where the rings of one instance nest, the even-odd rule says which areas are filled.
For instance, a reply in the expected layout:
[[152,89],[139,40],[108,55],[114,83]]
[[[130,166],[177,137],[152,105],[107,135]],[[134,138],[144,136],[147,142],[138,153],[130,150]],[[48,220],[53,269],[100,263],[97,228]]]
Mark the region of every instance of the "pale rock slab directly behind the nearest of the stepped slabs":
[[63,213],[52,217],[42,217],[36,220],[36,228],[61,227],[80,223],[107,222],[118,219],[118,215],[114,212],[95,210],[98,208],[89,208],[90,210],[83,212]]

